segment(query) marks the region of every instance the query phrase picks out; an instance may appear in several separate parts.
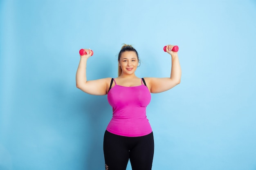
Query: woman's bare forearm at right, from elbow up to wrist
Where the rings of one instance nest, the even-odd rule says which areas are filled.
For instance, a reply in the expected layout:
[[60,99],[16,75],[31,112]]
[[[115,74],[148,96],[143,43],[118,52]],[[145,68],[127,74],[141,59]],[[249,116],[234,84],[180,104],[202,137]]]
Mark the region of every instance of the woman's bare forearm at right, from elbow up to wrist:
[[177,82],[177,84],[179,84],[181,80],[181,67],[178,54],[172,55],[171,79]]

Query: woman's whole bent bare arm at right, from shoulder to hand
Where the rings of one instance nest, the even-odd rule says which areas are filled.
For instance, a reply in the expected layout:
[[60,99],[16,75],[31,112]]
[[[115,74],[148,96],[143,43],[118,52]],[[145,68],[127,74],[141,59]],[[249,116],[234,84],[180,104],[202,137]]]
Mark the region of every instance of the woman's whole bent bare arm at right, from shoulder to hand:
[[171,75],[166,78],[145,78],[146,84],[149,85],[151,93],[161,93],[167,91],[177,84],[180,84],[181,67],[177,52],[171,51],[173,45],[166,46],[166,52],[171,55]]

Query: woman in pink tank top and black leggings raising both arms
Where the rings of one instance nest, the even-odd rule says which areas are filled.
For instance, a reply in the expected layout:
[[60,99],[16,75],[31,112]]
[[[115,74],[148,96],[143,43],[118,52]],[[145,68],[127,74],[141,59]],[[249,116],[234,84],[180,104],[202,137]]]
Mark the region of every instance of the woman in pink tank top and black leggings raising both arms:
[[107,126],[103,151],[106,170],[125,170],[128,160],[132,170],[151,170],[154,154],[153,132],[146,118],[150,93],[167,91],[180,83],[181,68],[173,45],[166,46],[171,55],[171,76],[139,78],[137,51],[124,45],[118,55],[118,77],[87,81],[86,62],[92,51],[85,49],[76,72],[76,87],[91,95],[108,95],[113,117]]

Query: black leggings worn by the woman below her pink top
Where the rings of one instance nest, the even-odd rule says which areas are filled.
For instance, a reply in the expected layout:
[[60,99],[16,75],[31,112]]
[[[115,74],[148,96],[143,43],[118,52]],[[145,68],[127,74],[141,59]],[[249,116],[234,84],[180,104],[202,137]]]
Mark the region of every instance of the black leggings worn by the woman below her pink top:
[[129,159],[132,170],[151,170],[154,155],[153,132],[141,137],[124,137],[106,130],[103,150],[106,170],[126,170]]

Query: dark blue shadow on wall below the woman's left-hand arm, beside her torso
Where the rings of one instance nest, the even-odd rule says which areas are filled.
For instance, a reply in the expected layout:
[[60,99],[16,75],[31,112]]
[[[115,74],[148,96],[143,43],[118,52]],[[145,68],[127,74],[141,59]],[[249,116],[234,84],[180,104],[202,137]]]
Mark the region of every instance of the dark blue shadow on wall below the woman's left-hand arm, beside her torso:
[[[83,92],[81,92],[83,93]],[[103,169],[105,167],[103,155],[103,136],[106,126],[112,117],[112,108],[108,104],[107,95],[94,96],[85,94],[88,97],[83,99],[82,112],[86,114],[84,135],[85,144],[85,169]]]

